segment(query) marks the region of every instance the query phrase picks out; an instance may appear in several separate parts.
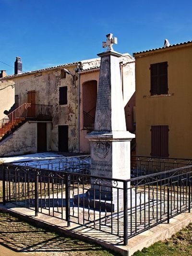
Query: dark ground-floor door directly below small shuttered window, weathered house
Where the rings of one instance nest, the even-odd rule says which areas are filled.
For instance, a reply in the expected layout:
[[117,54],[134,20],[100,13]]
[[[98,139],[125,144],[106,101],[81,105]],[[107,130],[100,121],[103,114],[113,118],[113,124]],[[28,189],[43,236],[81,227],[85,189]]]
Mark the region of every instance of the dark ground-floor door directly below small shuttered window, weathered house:
[[58,149],[60,152],[68,152],[68,125],[58,126]]

